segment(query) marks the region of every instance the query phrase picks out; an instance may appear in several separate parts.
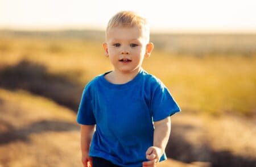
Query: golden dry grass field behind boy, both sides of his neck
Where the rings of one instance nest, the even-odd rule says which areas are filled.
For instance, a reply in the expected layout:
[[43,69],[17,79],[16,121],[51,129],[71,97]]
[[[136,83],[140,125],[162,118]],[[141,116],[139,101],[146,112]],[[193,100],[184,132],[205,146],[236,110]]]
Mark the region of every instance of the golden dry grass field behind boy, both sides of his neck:
[[[112,69],[104,57],[101,43],[97,42],[10,38],[0,40],[0,45],[8,48],[0,51],[2,68],[27,59],[45,66],[49,74],[65,74],[80,85]],[[198,58],[157,50],[143,64],[144,69],[170,88],[183,110],[247,116],[256,112],[255,66],[255,55],[205,55]]]

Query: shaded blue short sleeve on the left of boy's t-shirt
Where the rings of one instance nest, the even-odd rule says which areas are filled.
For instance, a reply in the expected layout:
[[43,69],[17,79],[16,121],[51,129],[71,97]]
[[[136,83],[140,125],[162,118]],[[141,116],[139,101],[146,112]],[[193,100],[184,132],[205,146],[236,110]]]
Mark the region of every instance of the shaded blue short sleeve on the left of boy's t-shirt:
[[77,123],[92,125],[96,124],[96,120],[93,114],[92,98],[87,85],[82,92],[82,97],[79,105],[79,111],[77,112]]

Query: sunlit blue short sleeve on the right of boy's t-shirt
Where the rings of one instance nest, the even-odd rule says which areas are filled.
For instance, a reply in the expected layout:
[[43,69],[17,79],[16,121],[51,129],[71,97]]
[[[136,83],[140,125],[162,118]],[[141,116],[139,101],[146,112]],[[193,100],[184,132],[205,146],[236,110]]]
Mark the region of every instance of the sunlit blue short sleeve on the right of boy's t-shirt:
[[159,121],[179,112],[180,107],[175,102],[167,87],[159,81],[151,99],[151,113],[153,121]]

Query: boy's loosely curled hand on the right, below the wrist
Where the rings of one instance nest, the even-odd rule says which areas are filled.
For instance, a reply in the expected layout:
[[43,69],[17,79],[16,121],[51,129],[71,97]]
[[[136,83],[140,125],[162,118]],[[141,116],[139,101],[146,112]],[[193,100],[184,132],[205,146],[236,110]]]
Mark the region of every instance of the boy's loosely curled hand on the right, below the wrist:
[[145,161],[142,163],[143,167],[148,166],[156,166],[158,164],[160,157],[162,156],[162,149],[159,147],[150,147],[147,149],[146,158],[149,161]]

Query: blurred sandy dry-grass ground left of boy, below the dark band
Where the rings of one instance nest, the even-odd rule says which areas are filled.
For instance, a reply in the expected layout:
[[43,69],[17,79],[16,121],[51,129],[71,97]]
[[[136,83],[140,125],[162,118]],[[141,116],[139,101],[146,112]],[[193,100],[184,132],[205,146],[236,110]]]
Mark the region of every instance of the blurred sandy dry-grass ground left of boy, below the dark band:
[[1,165],[80,165],[75,113],[26,91],[0,89],[0,99]]

